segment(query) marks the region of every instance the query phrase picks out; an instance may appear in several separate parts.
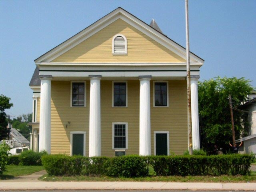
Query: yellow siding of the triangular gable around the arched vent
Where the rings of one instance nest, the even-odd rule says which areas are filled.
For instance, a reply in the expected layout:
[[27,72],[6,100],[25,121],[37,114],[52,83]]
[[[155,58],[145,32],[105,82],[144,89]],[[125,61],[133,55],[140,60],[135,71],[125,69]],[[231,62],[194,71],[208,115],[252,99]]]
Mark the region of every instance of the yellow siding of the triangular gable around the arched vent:
[[[126,36],[127,55],[112,55],[112,38],[116,34]],[[185,62],[185,60],[118,19],[52,62]]]

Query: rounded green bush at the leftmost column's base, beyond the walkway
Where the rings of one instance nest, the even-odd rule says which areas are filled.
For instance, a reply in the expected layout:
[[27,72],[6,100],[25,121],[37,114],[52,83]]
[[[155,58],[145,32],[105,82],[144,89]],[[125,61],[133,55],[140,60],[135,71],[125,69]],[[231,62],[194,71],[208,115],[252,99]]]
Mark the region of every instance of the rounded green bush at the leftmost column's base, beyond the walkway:
[[34,152],[32,150],[24,151],[20,154],[21,165],[42,165],[41,157],[46,155],[46,152]]

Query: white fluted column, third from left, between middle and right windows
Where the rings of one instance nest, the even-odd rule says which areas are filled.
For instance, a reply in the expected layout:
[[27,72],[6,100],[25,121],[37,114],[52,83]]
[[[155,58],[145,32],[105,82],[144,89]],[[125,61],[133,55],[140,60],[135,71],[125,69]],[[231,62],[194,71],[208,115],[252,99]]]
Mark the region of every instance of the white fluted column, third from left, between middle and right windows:
[[140,155],[151,155],[150,141],[150,79],[139,76],[140,80]]

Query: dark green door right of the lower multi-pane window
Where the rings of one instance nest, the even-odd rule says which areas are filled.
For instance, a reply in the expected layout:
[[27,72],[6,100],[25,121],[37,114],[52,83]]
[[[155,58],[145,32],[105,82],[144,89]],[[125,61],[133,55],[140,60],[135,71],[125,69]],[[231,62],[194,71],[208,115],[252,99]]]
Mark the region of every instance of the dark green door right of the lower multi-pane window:
[[156,155],[167,154],[167,133],[156,133]]

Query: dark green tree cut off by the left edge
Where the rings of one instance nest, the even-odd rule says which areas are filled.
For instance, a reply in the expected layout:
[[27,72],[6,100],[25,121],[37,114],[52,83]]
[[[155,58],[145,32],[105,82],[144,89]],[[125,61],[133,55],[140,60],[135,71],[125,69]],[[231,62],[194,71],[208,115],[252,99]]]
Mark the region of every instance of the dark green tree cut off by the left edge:
[[0,95],[0,140],[4,139],[8,135],[7,125],[8,122],[6,121],[6,113],[4,110],[10,109],[13,106],[10,103],[10,98],[4,96],[3,94]]

